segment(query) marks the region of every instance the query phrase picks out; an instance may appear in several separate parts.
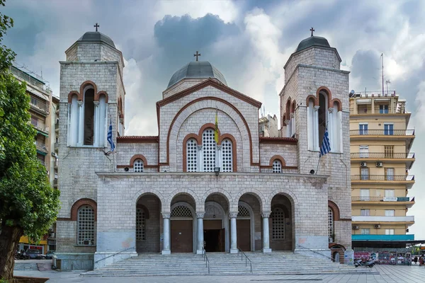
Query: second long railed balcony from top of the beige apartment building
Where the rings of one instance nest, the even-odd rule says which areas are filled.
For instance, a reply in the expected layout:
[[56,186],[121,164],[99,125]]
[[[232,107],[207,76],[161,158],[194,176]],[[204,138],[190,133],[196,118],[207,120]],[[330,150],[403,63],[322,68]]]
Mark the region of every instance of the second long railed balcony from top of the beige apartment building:
[[390,161],[392,163],[406,163],[407,168],[412,168],[415,161],[413,152],[352,152],[350,156],[351,163],[363,161]]

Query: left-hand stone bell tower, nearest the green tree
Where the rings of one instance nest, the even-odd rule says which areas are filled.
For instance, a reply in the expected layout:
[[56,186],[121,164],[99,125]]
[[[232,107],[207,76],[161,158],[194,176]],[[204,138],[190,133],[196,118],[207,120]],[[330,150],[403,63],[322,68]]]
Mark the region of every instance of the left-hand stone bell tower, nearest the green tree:
[[[111,150],[109,125],[115,144],[124,131],[123,54],[95,26],[96,31],[84,33],[65,52],[66,61],[60,62],[58,187],[62,207],[57,218],[57,253],[64,265],[73,257],[93,262],[97,246],[96,172],[113,171],[115,166],[106,154]],[[84,233],[77,227],[81,217],[90,225]]]

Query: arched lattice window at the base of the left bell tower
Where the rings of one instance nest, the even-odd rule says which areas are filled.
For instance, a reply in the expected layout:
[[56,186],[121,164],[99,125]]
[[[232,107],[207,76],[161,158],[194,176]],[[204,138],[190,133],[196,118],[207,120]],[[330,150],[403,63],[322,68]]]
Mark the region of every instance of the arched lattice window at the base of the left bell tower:
[[94,209],[84,204],[78,209],[77,244],[94,246]]

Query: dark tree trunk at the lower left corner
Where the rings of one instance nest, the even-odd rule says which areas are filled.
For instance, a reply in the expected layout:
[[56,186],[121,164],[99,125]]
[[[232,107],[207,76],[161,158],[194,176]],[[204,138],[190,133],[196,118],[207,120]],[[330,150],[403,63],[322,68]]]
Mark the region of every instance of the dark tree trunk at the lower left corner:
[[22,235],[23,229],[18,226],[1,225],[0,279],[6,279],[6,282],[8,282],[8,280],[12,282],[13,267],[15,266],[15,252]]

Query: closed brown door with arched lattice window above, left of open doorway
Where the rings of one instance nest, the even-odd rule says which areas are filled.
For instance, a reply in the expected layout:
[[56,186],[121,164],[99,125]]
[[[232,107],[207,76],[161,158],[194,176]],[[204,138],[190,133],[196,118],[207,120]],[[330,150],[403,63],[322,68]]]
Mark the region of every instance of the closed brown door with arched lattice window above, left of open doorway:
[[187,202],[171,206],[171,253],[196,251],[196,212]]

